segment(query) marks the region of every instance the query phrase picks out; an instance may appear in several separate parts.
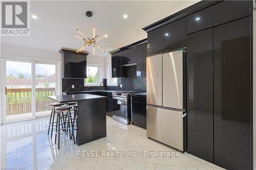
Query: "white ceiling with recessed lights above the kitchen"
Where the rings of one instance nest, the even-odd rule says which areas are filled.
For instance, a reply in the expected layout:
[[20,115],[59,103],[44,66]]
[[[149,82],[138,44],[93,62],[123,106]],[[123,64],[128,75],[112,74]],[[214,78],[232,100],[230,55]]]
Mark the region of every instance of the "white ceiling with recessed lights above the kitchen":
[[[62,47],[78,49],[83,41],[72,36],[76,29],[92,37],[96,27],[106,53],[96,50],[96,56],[147,37],[143,27],[174,14],[198,1],[31,1],[30,36],[2,36],[1,43],[59,51]],[[86,11],[92,11],[90,21]],[[123,18],[127,14],[127,19]],[[77,34],[77,33],[76,33]],[[77,34],[79,35],[79,34]],[[92,53],[92,48],[86,50]]]

